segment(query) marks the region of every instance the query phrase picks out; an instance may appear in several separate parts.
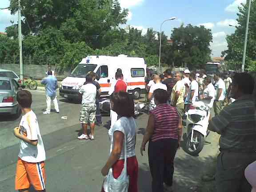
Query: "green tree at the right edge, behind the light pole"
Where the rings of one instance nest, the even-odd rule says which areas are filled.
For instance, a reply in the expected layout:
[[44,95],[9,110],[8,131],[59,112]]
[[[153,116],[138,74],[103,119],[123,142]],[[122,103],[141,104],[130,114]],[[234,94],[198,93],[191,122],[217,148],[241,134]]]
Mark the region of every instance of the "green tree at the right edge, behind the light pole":
[[[242,65],[247,13],[248,4],[241,4],[237,13],[238,26],[232,35],[226,37],[228,50],[222,52],[225,60],[232,61],[232,64],[235,65],[233,68],[236,68],[237,65],[241,68]],[[245,68],[250,68],[253,60],[256,60],[256,0],[252,0],[251,6]]]

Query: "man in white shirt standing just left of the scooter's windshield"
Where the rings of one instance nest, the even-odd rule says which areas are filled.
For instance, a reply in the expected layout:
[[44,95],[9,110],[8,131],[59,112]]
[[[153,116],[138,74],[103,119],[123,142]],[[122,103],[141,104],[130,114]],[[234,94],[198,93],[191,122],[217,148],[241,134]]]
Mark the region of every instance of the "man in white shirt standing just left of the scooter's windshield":
[[188,96],[185,100],[185,104],[188,104],[188,108],[191,108],[191,103],[198,100],[199,85],[196,81],[196,74],[191,73],[189,76],[191,84],[188,88]]

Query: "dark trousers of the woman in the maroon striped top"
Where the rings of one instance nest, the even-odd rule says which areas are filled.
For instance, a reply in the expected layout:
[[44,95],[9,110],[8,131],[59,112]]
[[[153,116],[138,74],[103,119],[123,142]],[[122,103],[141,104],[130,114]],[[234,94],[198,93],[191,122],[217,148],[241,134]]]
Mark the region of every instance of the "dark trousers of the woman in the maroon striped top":
[[178,140],[176,139],[149,141],[148,163],[152,176],[152,192],[164,192],[164,183],[172,186],[173,160],[177,148]]

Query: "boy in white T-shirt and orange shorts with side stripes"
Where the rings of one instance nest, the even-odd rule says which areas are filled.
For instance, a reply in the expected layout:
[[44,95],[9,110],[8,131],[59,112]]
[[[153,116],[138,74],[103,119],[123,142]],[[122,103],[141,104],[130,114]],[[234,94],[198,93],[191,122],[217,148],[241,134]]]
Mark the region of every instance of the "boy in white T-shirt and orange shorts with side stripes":
[[15,189],[28,192],[32,185],[36,191],[45,192],[45,150],[36,114],[31,110],[32,95],[22,90],[17,93],[17,101],[23,116],[20,126],[14,129],[14,135],[20,139]]

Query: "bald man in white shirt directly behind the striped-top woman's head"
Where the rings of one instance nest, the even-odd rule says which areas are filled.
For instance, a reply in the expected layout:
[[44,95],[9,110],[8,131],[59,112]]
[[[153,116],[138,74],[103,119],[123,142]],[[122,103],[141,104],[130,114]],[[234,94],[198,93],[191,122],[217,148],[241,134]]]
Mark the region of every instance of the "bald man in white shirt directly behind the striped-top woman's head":
[[152,109],[156,108],[156,104],[155,104],[153,92],[154,92],[156,89],[159,89],[159,88],[160,88],[160,89],[164,89],[165,91],[167,91],[166,85],[161,83],[160,76],[155,75],[155,76],[154,76],[154,82],[155,82],[155,84],[153,84],[153,85],[150,87],[149,93],[148,93],[148,100],[150,101],[150,103],[149,103],[149,110],[152,110]]

